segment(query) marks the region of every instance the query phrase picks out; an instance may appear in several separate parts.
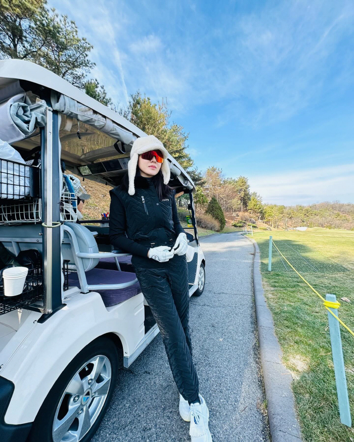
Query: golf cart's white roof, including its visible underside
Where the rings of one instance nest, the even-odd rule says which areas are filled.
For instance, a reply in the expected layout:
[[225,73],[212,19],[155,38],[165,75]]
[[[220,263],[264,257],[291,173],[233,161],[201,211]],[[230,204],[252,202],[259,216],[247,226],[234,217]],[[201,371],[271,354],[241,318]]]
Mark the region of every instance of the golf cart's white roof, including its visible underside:
[[[7,95],[8,90],[32,91],[40,99],[49,102],[51,93],[57,92],[69,99],[89,108],[100,117],[112,122],[122,132],[130,133],[132,140],[147,136],[137,126],[109,109],[102,103],[94,100],[82,90],[53,72],[34,63],[23,60],[0,61],[0,102]],[[13,93],[12,95],[14,95]],[[61,112],[61,111],[59,111]],[[100,130],[97,126],[78,121],[72,116],[62,115],[60,125],[60,141],[62,145],[62,159],[68,170],[94,181],[105,182],[112,186],[119,184],[127,168],[132,140],[124,144],[123,151],[117,147],[118,137]],[[39,131],[29,138],[13,143],[19,150],[30,151],[40,144]],[[121,145],[121,144],[120,144]],[[185,187],[195,190],[194,183],[182,166],[168,156],[172,181],[171,187]],[[117,167],[114,164],[118,165]]]

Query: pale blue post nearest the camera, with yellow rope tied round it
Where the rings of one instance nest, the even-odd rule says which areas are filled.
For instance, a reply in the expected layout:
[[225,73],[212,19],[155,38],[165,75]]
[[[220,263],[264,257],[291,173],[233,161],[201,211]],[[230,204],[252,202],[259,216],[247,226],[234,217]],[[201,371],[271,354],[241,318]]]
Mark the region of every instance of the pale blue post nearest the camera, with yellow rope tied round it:
[[[326,294],[326,301],[336,302],[334,294]],[[330,310],[338,316],[338,309]],[[348,388],[346,385],[345,367],[343,359],[342,340],[340,337],[339,322],[328,312],[329,332],[331,335],[332,356],[334,375],[337,385],[337,396],[339,404],[339,416],[342,424],[351,427],[350,406],[348,399]]]

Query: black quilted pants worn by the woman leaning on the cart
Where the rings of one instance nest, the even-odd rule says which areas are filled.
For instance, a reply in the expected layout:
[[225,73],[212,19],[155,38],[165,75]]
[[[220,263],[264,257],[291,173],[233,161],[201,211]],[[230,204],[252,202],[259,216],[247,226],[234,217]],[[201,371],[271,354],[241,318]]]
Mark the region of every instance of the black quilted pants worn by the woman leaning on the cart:
[[186,255],[174,255],[158,269],[136,267],[142,292],[154,315],[173,379],[187,401],[195,401],[199,381],[189,334],[189,287]]

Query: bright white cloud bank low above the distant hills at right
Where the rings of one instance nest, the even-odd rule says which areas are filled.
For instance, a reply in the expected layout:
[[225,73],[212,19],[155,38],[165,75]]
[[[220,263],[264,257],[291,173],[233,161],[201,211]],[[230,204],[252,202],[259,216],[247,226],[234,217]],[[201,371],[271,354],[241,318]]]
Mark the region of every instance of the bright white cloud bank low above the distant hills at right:
[[353,203],[354,163],[250,176],[249,183],[269,204]]

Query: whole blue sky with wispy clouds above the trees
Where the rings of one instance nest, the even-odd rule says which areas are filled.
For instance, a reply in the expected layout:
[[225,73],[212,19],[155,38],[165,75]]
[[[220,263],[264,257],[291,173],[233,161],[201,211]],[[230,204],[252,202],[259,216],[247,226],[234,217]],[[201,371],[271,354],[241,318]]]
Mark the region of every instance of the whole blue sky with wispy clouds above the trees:
[[49,5],[94,44],[115,102],[167,97],[198,169],[247,176],[265,203],[354,203],[351,1]]

